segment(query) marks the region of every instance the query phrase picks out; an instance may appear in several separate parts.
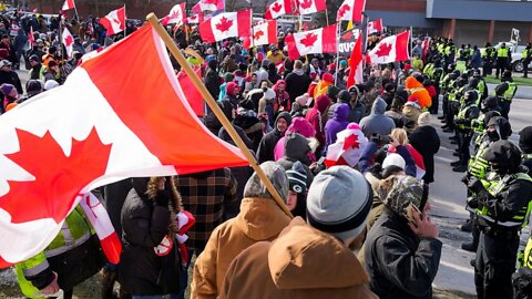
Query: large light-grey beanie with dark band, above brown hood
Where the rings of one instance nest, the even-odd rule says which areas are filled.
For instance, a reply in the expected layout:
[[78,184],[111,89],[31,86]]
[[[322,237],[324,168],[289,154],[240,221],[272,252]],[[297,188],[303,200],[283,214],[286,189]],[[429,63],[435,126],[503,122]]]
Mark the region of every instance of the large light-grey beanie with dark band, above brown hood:
[[348,166],[319,173],[308,190],[307,221],[342,240],[360,235],[371,209],[372,190],[366,178]]

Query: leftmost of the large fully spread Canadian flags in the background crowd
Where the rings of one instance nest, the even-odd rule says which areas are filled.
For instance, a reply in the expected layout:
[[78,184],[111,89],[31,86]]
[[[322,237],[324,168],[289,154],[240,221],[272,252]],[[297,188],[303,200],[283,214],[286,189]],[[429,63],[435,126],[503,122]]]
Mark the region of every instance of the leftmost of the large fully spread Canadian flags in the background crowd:
[[200,34],[204,42],[217,42],[227,38],[252,35],[252,10],[223,12],[200,24]]

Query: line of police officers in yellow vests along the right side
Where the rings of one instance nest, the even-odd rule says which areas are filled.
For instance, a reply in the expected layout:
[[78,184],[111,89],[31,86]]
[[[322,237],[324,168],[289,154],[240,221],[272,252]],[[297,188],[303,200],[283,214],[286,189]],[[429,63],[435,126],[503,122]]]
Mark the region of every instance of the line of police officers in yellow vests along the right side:
[[[433,73],[441,75],[432,79],[443,95],[439,118],[446,123],[444,132],[454,133],[451,143],[458,145],[454,155],[459,161],[451,165],[454,172],[466,173],[462,182],[468,187],[471,217],[462,230],[472,231],[473,240],[462,248],[477,252],[472,264],[478,298],[532,298],[532,238],[520,255],[523,267],[515,272],[521,229],[532,210],[532,126],[520,133],[519,147],[508,141],[512,134],[508,114],[516,85],[508,70],[509,51],[504,45],[501,49],[497,51],[501,84],[493,95],[488,95],[479,70],[457,70],[444,52],[447,72],[434,60],[439,69],[433,68],[438,69]],[[492,56],[491,52],[483,55]],[[492,65],[483,66],[491,73]]]

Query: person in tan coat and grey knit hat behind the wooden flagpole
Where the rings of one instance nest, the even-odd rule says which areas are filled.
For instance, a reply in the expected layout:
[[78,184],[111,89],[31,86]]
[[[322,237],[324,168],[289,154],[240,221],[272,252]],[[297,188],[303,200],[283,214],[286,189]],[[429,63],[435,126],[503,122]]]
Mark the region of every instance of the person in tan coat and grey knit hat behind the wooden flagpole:
[[[260,168],[286,200],[288,179],[285,169],[272,161],[260,164]],[[216,298],[233,259],[257,241],[277,238],[289,221],[254,173],[244,188],[241,213],[214,229],[205,250],[197,257],[191,298]]]

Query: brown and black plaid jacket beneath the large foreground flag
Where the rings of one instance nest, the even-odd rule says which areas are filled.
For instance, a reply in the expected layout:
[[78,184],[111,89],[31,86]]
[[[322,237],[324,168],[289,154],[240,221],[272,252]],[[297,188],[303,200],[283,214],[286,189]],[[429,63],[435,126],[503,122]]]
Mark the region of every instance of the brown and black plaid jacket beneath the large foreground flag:
[[214,228],[222,223],[224,204],[236,200],[236,181],[229,168],[176,176],[183,206],[196,218],[188,230],[188,246],[203,250]]

